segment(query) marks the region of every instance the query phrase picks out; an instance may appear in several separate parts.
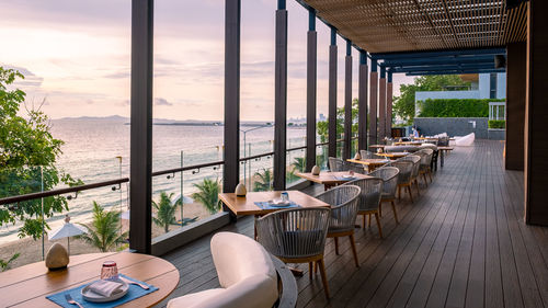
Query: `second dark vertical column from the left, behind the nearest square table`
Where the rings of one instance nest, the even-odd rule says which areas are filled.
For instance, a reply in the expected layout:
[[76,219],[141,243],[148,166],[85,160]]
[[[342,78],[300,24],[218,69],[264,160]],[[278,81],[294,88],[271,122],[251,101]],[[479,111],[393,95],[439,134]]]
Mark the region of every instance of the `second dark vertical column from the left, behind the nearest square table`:
[[241,0],[225,1],[225,168],[222,191],[240,182],[240,20]]

